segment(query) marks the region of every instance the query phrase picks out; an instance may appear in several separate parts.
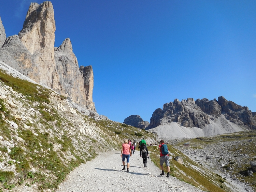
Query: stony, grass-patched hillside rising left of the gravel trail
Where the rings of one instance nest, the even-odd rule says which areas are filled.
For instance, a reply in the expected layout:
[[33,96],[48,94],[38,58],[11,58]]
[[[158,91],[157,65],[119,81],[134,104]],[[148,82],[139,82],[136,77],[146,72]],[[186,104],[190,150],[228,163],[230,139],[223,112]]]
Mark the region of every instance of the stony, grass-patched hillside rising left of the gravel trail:
[[155,135],[90,112],[0,62],[0,191],[55,191],[124,138]]

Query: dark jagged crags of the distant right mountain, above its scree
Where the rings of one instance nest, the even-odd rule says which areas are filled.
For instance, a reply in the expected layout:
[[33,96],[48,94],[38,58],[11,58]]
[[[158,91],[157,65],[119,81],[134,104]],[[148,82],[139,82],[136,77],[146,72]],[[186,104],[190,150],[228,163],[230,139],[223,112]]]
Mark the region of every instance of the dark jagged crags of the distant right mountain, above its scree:
[[[183,127],[204,128],[207,124],[216,122],[222,116],[243,129],[256,129],[256,112],[252,112],[248,107],[242,107],[232,101],[227,101],[224,97],[218,100],[208,100],[206,98],[192,98],[187,100],[175,99],[173,102],[163,104],[163,108],[154,111],[150,125],[147,129],[155,128],[163,123],[177,122]],[[211,120],[210,120],[211,119]],[[228,121],[220,120],[225,129],[229,129]],[[236,128],[237,129],[237,128]]]

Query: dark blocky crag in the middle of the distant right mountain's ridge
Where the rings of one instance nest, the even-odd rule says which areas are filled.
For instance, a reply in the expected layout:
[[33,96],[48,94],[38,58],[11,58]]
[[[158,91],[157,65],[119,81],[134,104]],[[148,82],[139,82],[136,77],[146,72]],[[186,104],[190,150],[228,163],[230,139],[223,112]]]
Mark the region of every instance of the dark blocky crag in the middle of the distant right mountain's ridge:
[[207,113],[212,116],[219,116],[222,113],[221,106],[217,103],[217,100],[211,100],[203,98],[203,99],[197,99],[196,102],[197,106],[201,108],[201,110],[204,113]]

